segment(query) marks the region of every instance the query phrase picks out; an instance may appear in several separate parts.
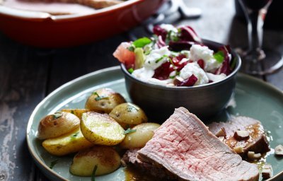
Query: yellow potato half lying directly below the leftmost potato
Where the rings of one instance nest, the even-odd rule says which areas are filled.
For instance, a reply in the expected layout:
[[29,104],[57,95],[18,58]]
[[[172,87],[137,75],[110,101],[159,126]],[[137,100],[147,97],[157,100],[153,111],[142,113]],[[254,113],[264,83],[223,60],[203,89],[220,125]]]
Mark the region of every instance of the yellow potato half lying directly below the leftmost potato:
[[53,139],[46,139],[42,142],[42,146],[54,156],[64,156],[90,148],[93,144],[83,137],[81,129],[78,127],[68,134]]

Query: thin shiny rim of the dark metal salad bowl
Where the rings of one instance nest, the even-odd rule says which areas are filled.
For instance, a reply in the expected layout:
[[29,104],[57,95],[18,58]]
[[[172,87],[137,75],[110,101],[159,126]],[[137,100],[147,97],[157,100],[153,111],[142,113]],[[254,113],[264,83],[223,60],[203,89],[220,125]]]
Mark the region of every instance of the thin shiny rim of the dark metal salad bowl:
[[[204,45],[206,45],[206,44],[214,44],[214,46],[224,45],[224,44],[221,44],[219,42],[214,42],[212,40],[202,39],[202,41],[204,42]],[[120,64],[120,67],[121,67],[122,72],[124,73],[124,75],[127,76],[127,78],[130,78],[130,79],[132,79],[132,81],[140,83],[141,85],[144,85],[144,86],[148,86],[148,87],[151,87],[151,88],[163,89],[163,90],[174,90],[174,91],[200,90],[200,89],[204,89],[204,88],[211,88],[211,87],[214,87],[214,86],[219,86],[219,84],[225,83],[226,81],[229,81],[231,78],[236,76],[236,74],[238,73],[239,69],[241,68],[241,64],[242,64],[241,57],[233,49],[231,49],[231,54],[238,61],[236,62],[236,66],[233,69],[233,71],[231,72],[231,74],[229,74],[229,76],[226,76],[226,78],[222,79],[221,81],[212,82],[212,83],[206,83],[206,84],[202,84],[202,85],[199,85],[199,86],[192,86],[192,87],[186,87],[186,86],[162,86],[162,85],[157,85],[157,84],[154,84],[154,83],[146,83],[144,81],[139,80],[138,78],[135,78],[131,74],[129,74],[129,71],[127,71],[127,69],[126,69],[124,64]]]

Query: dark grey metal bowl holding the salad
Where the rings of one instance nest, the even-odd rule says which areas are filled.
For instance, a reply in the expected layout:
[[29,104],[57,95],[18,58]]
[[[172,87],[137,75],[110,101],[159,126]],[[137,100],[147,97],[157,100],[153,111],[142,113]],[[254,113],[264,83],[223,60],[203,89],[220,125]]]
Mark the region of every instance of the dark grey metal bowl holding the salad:
[[[217,42],[203,41],[211,49],[222,46]],[[164,122],[180,106],[206,119],[221,112],[233,95],[241,58],[233,50],[231,54],[232,58],[236,58],[236,66],[229,76],[219,82],[194,87],[166,87],[146,83],[131,76],[123,64],[121,68],[132,102],[144,109],[151,121]]]

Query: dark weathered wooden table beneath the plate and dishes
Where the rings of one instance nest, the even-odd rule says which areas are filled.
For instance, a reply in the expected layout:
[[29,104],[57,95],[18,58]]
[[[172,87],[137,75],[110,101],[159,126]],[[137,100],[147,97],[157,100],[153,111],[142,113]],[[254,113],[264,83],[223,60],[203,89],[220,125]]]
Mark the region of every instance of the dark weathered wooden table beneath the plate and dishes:
[[[202,17],[175,21],[191,25],[206,39],[246,45],[246,25],[235,17],[233,0],[186,1],[202,9]],[[21,45],[0,32],[0,180],[47,180],[28,152],[25,131],[31,112],[46,95],[67,81],[92,71],[118,65],[112,52],[143,26],[89,45],[40,49]],[[283,52],[283,31],[265,30],[263,45]],[[283,70],[258,76],[283,90]]]

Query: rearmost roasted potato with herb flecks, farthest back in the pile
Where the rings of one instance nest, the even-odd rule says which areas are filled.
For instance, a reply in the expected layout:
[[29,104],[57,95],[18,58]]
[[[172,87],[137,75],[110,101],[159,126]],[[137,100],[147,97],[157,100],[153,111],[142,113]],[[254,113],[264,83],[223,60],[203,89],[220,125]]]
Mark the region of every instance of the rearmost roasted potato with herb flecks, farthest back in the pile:
[[86,109],[109,113],[114,107],[125,102],[125,98],[120,93],[116,93],[110,88],[100,88],[86,100]]

